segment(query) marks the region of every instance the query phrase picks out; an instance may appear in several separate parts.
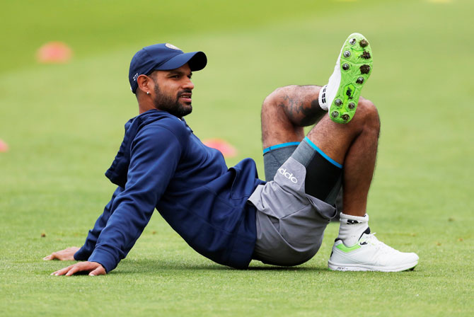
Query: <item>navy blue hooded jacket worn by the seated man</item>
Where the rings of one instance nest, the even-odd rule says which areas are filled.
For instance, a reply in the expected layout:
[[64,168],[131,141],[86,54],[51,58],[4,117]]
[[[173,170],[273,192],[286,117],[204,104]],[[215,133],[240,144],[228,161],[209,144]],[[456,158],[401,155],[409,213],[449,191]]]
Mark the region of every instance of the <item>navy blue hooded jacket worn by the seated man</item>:
[[221,152],[204,146],[184,120],[149,110],[129,120],[105,175],[118,185],[76,260],[107,272],[127,256],[156,208],[197,252],[245,268],[255,246],[255,162],[227,168]]

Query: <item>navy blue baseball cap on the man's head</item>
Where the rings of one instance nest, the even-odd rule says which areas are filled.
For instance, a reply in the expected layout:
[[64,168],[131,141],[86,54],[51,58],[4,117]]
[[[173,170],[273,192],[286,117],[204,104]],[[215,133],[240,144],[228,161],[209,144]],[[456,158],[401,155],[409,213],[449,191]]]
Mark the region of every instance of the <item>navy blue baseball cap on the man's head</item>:
[[149,75],[153,71],[177,69],[186,63],[190,66],[191,71],[200,71],[206,67],[206,54],[203,52],[185,53],[169,43],[144,47],[134,54],[132,62],[130,62],[128,73],[130,89],[133,93],[137,91],[137,78],[140,75]]

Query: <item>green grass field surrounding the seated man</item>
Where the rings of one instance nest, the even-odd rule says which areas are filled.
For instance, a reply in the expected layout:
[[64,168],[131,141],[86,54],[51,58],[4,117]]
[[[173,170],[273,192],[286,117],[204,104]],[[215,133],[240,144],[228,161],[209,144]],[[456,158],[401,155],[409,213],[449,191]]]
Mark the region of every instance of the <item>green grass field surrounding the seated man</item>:
[[[0,316],[474,316],[474,28],[470,0],[9,1],[0,26]],[[164,2],[164,1],[163,1]],[[371,41],[363,95],[381,116],[371,229],[420,255],[412,272],[330,272],[318,254],[233,270],[195,253],[158,213],[116,270],[53,277],[47,254],[81,246],[114,186],[103,173],[137,115],[127,81],[141,47],[203,50],[194,112],[202,139],[253,157],[274,88],[323,85],[347,35]],[[52,40],[69,64],[37,64]]]

